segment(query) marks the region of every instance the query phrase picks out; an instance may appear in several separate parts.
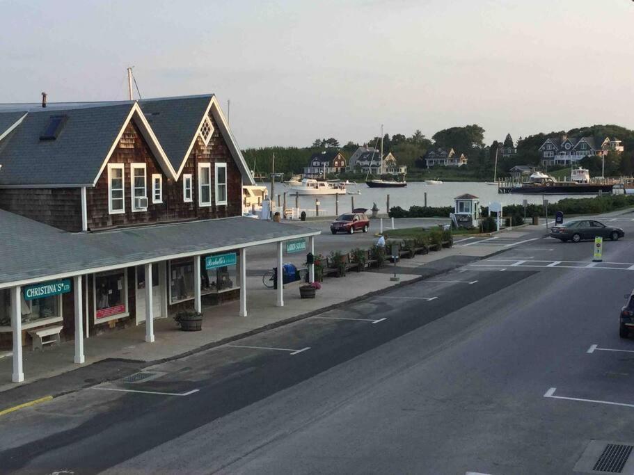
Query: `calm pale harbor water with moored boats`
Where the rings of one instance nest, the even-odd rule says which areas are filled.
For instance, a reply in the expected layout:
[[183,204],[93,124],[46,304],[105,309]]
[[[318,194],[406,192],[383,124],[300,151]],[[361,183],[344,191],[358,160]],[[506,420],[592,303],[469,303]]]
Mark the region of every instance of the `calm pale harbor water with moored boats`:
[[[258,183],[259,185],[260,183]],[[271,184],[266,184],[271,191]],[[529,204],[541,204],[546,198],[548,202],[554,203],[564,198],[589,198],[594,195],[535,195],[535,194],[500,194],[498,186],[489,185],[484,182],[447,182],[443,184],[430,185],[425,182],[410,182],[404,188],[370,188],[365,183],[356,186],[347,186],[347,193],[360,194],[338,195],[339,212],[351,210],[352,200],[356,208],[372,209],[372,204],[376,203],[379,213],[386,213],[387,197],[390,195],[390,207],[399,206],[409,209],[412,205],[423,206],[425,204],[425,193],[427,193],[427,206],[443,207],[453,206],[454,198],[464,193],[480,198],[480,204],[487,206],[490,202],[501,202],[502,205],[522,204],[527,200]],[[286,192],[287,208],[295,207],[295,193],[290,191],[284,184],[275,184],[274,198],[277,202],[277,195],[280,195],[280,204],[283,202],[283,193]],[[333,216],[335,214],[335,195],[310,196],[299,195],[299,208],[306,209],[309,216],[314,215],[315,200],[319,201],[319,214]]]

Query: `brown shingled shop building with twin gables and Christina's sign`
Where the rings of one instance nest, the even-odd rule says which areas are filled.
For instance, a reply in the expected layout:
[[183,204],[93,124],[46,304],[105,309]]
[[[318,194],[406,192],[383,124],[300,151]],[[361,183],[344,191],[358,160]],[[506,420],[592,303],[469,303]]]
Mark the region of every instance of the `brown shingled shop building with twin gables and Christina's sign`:
[[274,243],[280,267],[285,241],[319,234],[242,216],[253,177],[215,95],[0,104],[0,164],[0,348],[15,381],[40,329],[83,341],[144,324],[151,342],[154,319],[181,310],[239,299],[246,316],[248,248]]

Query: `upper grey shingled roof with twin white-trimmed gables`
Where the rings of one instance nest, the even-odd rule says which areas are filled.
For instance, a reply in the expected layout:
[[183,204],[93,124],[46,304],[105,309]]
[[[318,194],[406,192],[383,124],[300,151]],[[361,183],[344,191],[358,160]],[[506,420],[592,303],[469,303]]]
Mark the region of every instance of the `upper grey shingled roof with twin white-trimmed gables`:
[[[177,179],[208,113],[216,120],[243,182],[254,184],[216,97],[207,94],[138,102],[49,103],[46,108],[0,104],[0,129],[24,116],[19,127],[0,141],[0,186],[92,186],[130,119],[141,129],[166,175]],[[56,140],[40,140],[52,115],[66,116],[63,129]]]

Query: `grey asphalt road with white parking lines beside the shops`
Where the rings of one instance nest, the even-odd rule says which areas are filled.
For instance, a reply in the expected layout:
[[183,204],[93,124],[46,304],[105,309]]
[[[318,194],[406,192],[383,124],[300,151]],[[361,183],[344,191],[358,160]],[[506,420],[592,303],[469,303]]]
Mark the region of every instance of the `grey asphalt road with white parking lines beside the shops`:
[[600,264],[591,242],[535,232],[154,379],[7,414],[0,472],[582,473],[592,440],[634,442],[634,339],[617,325],[634,222],[611,224],[626,239]]

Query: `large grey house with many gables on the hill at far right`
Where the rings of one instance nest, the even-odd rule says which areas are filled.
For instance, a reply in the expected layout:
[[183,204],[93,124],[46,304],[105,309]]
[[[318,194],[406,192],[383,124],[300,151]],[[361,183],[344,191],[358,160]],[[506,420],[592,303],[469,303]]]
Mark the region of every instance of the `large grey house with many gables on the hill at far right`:
[[615,137],[549,137],[539,147],[541,163],[544,165],[570,165],[586,156],[607,155],[608,152],[623,152],[621,140]]

